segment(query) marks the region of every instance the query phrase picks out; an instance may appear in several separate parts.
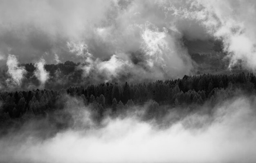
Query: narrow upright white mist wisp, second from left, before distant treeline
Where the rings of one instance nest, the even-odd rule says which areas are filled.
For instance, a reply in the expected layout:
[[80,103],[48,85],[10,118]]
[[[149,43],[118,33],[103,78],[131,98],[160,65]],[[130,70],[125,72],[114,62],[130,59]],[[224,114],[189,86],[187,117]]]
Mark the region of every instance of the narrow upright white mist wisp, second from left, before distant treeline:
[[40,81],[40,87],[44,87],[45,82],[49,78],[49,72],[45,70],[45,60],[41,58],[36,64],[36,70],[34,71],[34,74],[36,78]]

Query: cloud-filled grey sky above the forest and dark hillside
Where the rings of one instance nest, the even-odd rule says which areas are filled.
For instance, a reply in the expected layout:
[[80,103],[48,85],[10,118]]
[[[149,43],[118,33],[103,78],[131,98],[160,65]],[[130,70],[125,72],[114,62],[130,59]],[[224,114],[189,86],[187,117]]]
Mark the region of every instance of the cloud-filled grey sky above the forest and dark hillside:
[[[87,63],[133,77],[191,74],[183,40],[221,39],[230,66],[256,68],[254,0],[0,0],[0,64]],[[11,57],[9,57],[11,58]]]

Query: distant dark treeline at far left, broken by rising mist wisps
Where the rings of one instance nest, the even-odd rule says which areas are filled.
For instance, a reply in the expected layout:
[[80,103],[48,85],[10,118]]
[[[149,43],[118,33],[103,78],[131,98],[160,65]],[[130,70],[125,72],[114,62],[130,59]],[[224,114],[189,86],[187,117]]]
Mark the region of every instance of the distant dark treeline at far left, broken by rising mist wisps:
[[[21,89],[27,90],[27,88],[38,88],[40,86],[40,81],[34,75],[36,71],[35,64],[27,63],[21,64],[20,66],[25,67],[27,71],[22,79],[22,83],[19,85]],[[85,83],[85,78],[83,76],[83,70],[81,67],[83,64],[74,63],[72,61],[66,61],[65,63],[49,64],[44,65],[45,70],[49,73],[49,78],[47,79],[44,87],[45,89],[61,89],[69,87],[70,85],[80,85]],[[0,70],[0,85],[7,87],[6,80],[9,78],[7,74],[7,69]],[[90,80],[88,80],[88,83]]]

